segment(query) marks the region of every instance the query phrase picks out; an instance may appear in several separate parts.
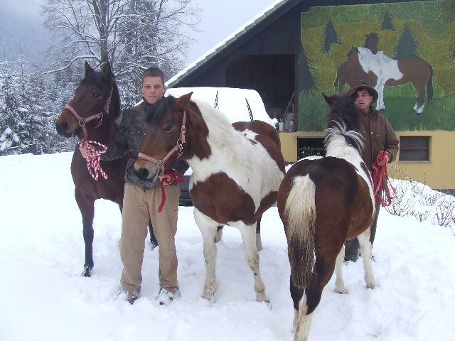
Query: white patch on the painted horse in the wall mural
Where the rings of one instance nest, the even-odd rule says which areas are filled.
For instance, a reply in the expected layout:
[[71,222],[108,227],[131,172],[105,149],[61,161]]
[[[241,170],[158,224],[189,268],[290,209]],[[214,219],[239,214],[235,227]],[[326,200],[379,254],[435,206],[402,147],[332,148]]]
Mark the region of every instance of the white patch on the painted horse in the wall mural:
[[358,47],[358,60],[363,70],[368,73],[372,71],[378,76],[375,90],[378,92],[378,103],[376,109],[385,109],[384,85],[387,80],[400,80],[403,77],[398,68],[398,61],[378,51],[375,55],[368,48]]

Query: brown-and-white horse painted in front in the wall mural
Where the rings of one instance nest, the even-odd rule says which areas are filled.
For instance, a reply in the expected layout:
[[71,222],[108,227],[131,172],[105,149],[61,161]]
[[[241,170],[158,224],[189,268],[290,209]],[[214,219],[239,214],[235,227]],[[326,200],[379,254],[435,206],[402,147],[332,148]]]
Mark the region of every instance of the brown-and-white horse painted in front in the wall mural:
[[373,54],[369,48],[360,46],[352,48],[347,57],[346,63],[349,70],[353,71],[356,76],[362,75],[362,73],[368,75],[363,80],[375,87],[378,92],[379,98],[376,109],[385,110],[385,85],[397,86],[405,85],[409,82],[412,83],[415,90],[417,90],[417,100],[412,108],[413,114],[420,115],[424,111],[425,91],[428,95],[428,103],[432,102],[434,72],[432,65],[426,60],[418,57],[395,60],[382,53],[382,51]]

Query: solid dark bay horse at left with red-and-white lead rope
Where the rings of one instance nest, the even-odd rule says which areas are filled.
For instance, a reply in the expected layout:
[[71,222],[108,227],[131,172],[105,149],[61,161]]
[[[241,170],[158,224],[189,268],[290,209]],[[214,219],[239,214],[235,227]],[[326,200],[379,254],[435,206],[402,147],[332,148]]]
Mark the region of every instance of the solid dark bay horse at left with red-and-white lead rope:
[[[80,139],[107,144],[112,141],[121,119],[120,97],[117,83],[109,63],[95,72],[85,62],[85,77],[75,91],[75,96],[63,109],[55,122],[61,136],[78,136]],[[87,170],[87,161],[75,148],[71,161],[71,175],[75,184],[75,199],[82,215],[82,234],[85,242],[85,263],[82,276],[90,277],[93,269],[93,217],[95,200],[117,202],[122,211],[124,172],[127,157],[114,161],[101,161],[107,179],[94,180]],[[152,246],[156,239],[149,225]]]

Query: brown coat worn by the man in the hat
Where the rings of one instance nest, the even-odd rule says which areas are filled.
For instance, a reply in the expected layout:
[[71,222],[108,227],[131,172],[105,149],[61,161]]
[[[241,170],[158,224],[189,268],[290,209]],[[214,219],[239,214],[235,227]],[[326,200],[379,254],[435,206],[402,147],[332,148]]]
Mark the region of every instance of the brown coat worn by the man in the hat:
[[399,141],[389,121],[378,110],[370,109],[368,114],[363,112],[361,117],[359,132],[365,139],[362,159],[372,171],[371,166],[380,151],[387,151],[390,154],[389,162],[397,158]]

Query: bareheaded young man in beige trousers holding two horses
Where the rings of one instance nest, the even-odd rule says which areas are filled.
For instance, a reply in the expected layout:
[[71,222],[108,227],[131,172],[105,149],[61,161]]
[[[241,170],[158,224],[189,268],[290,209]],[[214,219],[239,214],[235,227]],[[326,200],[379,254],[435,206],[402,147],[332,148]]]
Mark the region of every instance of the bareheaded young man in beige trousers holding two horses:
[[[157,106],[166,92],[163,72],[158,67],[149,67],[142,76],[142,95],[144,101],[125,110],[119,132],[114,140],[107,144],[107,152],[102,154],[102,160],[121,158],[127,153],[132,155],[125,171],[125,190],[122,210],[122,236],[120,239],[120,256],[123,263],[122,296],[129,303],[139,298],[141,293],[141,267],[144,259],[147,223],[149,219],[154,227],[154,233],[159,244],[159,283],[160,289],[157,301],[160,305],[171,303],[173,298],[180,296],[177,281],[177,254],[175,235],[177,232],[178,198],[180,190],[174,181],[164,188],[166,205],[161,213],[158,207],[161,203],[159,179],[146,183],[138,178],[133,165],[137,160],[139,147],[146,134],[146,118],[154,114]],[[90,151],[80,148],[82,156],[90,156]],[[183,175],[188,169],[188,163],[178,160],[173,163],[173,169]]]

